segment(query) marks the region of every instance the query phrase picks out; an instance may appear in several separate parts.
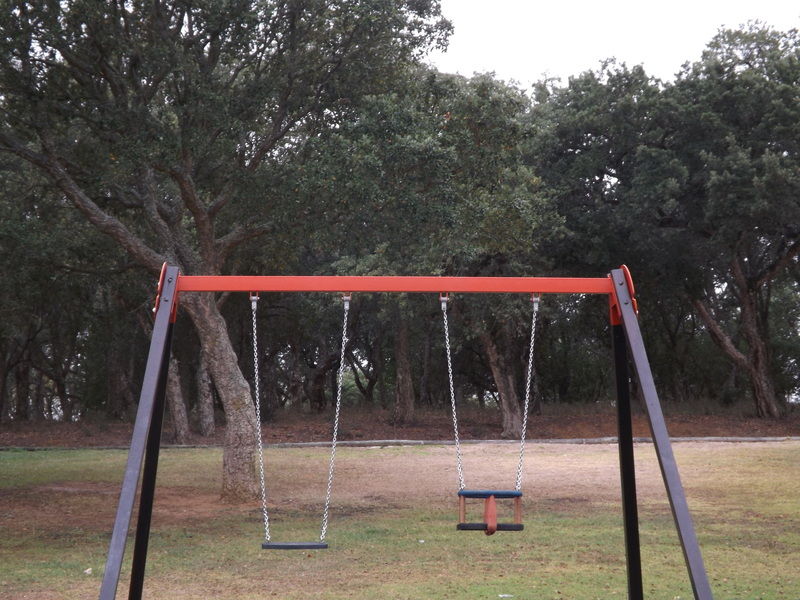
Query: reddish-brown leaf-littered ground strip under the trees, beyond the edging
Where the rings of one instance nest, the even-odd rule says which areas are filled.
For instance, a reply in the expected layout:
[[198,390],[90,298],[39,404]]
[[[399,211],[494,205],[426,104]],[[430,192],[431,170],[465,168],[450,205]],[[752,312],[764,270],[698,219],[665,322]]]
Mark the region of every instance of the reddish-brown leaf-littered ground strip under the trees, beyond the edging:
[[[558,410],[558,413],[549,412]],[[389,411],[348,409],[342,412],[342,440],[448,440],[452,423],[445,411],[419,411],[409,425],[395,425]],[[676,437],[785,437],[800,435],[800,413],[784,419],[767,420],[740,414],[689,415],[667,414],[667,428]],[[0,447],[125,447],[130,444],[133,425],[130,423],[5,423],[0,425]],[[498,439],[501,429],[498,414],[491,410],[463,411],[460,415],[462,439]],[[542,415],[531,418],[528,437],[531,439],[597,438],[616,435],[616,415],[610,408],[594,412],[590,408],[569,411],[545,407]],[[221,445],[224,427],[215,435],[201,437],[193,434],[192,445]],[[264,441],[317,442],[331,435],[331,415],[328,413],[279,413],[263,427]],[[649,429],[643,414],[634,415],[634,435],[648,436]],[[164,443],[172,441],[167,427]]]

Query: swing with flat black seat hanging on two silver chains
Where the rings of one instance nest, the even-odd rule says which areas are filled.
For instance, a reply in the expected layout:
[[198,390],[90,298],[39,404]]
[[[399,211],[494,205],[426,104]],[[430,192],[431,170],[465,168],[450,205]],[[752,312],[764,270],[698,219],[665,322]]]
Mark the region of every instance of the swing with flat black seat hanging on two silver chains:
[[331,456],[328,464],[328,486],[325,491],[325,504],[322,510],[322,526],[320,527],[319,541],[316,542],[273,542],[269,531],[269,512],[267,511],[267,487],[264,481],[264,445],[261,439],[261,393],[258,381],[258,329],[256,326],[256,312],[258,295],[250,294],[250,306],[253,312],[253,370],[255,376],[255,401],[256,421],[258,430],[258,465],[259,481],[261,484],[261,513],[264,518],[263,550],[324,550],[328,547],[325,536],[328,533],[328,515],[331,506],[331,492],[333,490],[334,467],[336,464],[336,440],[339,434],[339,413],[342,407],[342,377],[344,373],[344,352],[347,346],[347,315],[350,312],[350,296],[343,295],[344,317],[342,318],[342,351],[339,360],[339,370],[336,378],[336,409],[333,418],[333,437],[331,439]]

